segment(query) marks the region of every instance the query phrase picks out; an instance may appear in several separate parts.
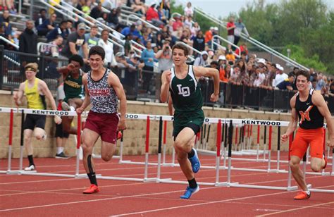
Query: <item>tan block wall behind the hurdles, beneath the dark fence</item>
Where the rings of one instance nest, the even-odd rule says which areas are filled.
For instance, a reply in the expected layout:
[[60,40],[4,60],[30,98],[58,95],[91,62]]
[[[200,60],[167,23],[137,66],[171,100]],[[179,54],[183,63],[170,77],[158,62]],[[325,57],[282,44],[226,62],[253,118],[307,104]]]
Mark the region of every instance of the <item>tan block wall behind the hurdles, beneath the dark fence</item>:
[[[8,92],[0,92],[0,106],[1,107],[15,107],[13,104],[12,95]],[[140,113],[140,114],[155,114],[155,115],[168,115],[168,109],[166,104],[144,103],[138,101],[128,101],[127,113]],[[252,118],[256,120],[289,120],[290,115],[287,113],[272,113],[264,111],[247,111],[237,109],[219,109],[204,107],[204,113],[206,117],[211,118]],[[19,157],[20,150],[20,114],[14,115],[14,128],[13,128],[13,158]],[[76,123],[76,122],[75,122]],[[8,132],[9,132],[9,113],[0,113],[0,158],[8,157]],[[128,129],[124,131],[124,149],[125,155],[137,155],[144,154],[145,137],[146,137],[146,121],[145,120],[127,120]],[[167,153],[171,153],[173,145],[172,140],[172,123],[167,125]],[[54,138],[55,124],[53,118],[47,118],[46,125],[48,138],[46,141],[37,141],[35,138],[32,140],[34,145],[34,156],[36,157],[51,157],[56,154],[56,140]],[[158,151],[158,137],[159,137],[159,121],[152,120],[150,128],[150,140],[149,140],[149,152],[151,154]],[[281,132],[285,132],[285,128],[281,129]],[[253,127],[254,142],[256,142],[257,128]],[[268,133],[268,130],[267,130]],[[260,146],[263,146],[264,128],[261,127],[261,142]],[[233,135],[233,144],[234,144]],[[267,136],[268,141],[268,136]],[[277,128],[273,128],[273,149],[277,149]],[[95,154],[99,154],[101,142],[98,141]],[[209,150],[216,150],[216,125],[211,125],[211,132],[209,135]],[[287,144],[281,146],[281,150],[287,150]],[[65,147],[65,153],[69,156],[75,156],[75,140],[73,135],[70,136],[68,143]],[[119,153],[119,144],[116,154]]]

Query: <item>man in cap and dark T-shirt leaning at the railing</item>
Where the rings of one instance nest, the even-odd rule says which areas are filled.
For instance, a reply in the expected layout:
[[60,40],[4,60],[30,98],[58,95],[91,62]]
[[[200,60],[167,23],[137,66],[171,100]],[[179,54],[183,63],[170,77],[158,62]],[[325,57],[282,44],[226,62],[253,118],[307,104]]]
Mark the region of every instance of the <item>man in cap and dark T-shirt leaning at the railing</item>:
[[84,61],[87,61],[88,47],[85,41],[86,25],[85,23],[79,23],[76,32],[70,33],[65,43],[64,48],[61,50],[61,55],[69,58],[72,55],[79,54],[80,47],[83,51]]

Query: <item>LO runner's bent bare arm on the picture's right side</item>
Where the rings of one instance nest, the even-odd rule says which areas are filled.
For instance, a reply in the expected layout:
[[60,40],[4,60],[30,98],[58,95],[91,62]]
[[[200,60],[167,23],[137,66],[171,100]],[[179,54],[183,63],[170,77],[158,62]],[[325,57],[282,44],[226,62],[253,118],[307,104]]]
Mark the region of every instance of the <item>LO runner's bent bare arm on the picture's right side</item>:
[[213,77],[214,93],[211,94],[210,101],[217,101],[219,97],[219,71],[216,68],[204,68],[202,66],[194,66],[194,75],[196,77]]

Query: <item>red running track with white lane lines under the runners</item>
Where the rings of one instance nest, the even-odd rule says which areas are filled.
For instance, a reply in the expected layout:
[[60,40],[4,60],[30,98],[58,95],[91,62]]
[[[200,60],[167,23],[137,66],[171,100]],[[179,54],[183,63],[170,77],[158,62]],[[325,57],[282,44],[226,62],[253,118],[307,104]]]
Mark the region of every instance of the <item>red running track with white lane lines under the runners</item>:
[[[149,158],[150,162],[156,162],[156,156]],[[144,161],[144,156],[125,156],[126,159]],[[212,156],[200,156],[200,159],[202,165],[214,166]],[[109,163],[94,161],[97,173],[102,175],[144,176],[142,165],[119,164],[117,159]],[[43,173],[73,174],[75,171],[74,158],[35,159],[35,163]],[[240,168],[267,166],[252,161],[232,164]],[[285,164],[281,163],[280,168],[287,169]],[[6,170],[6,165],[7,161],[1,160],[0,170]],[[271,165],[276,168],[276,163]],[[13,169],[17,167],[18,159],[13,159]],[[156,171],[156,166],[149,166],[149,178],[155,178]],[[80,173],[85,173],[82,166]],[[214,182],[215,174],[212,169],[202,168],[196,178],[198,182]],[[161,178],[185,180],[177,166],[161,168]],[[221,170],[220,181],[226,180],[227,171]],[[286,187],[287,174],[232,171],[231,181]],[[1,174],[0,216],[334,216],[334,194],[329,193],[312,192],[310,199],[295,201],[296,192],[201,185],[197,194],[184,200],[179,196],[185,185],[99,179],[98,182],[101,192],[89,195],[82,194],[89,186],[87,179]],[[333,176],[307,175],[307,182],[318,189],[334,190]],[[295,185],[293,180],[292,185]]]

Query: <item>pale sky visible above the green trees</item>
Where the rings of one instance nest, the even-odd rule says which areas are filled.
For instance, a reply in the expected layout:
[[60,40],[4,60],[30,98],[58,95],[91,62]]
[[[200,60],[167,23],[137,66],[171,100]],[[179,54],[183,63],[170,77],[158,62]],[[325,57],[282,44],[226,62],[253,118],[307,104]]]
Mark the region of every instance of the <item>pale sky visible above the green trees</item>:
[[[185,4],[188,0],[175,0],[177,4]],[[278,2],[279,0],[266,0],[267,3]],[[227,17],[230,12],[237,13],[240,8],[246,6],[247,2],[252,0],[190,0],[193,6],[202,8],[204,12],[211,13],[218,17]],[[323,0],[329,8],[334,9],[334,0]]]

